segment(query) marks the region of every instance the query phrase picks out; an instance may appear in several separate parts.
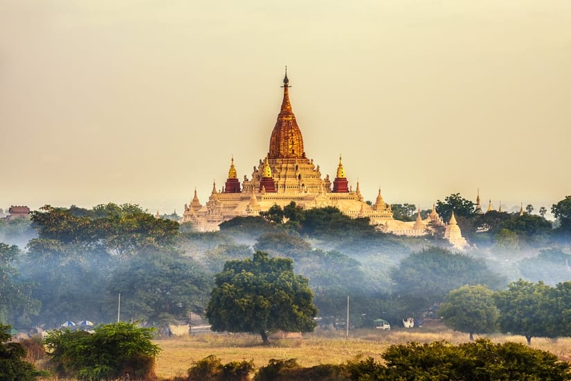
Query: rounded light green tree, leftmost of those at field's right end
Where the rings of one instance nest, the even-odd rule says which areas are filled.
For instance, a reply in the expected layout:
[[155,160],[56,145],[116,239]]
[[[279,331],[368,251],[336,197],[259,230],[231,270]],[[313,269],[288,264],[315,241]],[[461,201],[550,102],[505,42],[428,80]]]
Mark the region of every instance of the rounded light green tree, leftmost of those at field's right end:
[[493,291],[480,284],[462,286],[448,292],[438,313],[446,326],[469,333],[473,341],[474,333],[491,333],[497,328],[499,313],[492,296]]

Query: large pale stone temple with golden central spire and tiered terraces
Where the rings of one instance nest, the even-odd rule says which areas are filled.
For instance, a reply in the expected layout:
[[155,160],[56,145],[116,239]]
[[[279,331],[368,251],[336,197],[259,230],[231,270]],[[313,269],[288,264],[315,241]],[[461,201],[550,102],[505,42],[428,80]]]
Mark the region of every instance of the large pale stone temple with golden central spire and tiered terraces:
[[228,178],[224,187],[216,184],[206,202],[201,205],[194,189],[194,198],[184,205],[181,222],[190,222],[199,230],[217,230],[218,225],[236,216],[257,216],[273,205],[284,207],[292,201],[305,209],[337,207],[352,218],[368,217],[377,229],[399,235],[422,236],[430,223],[444,225],[435,209],[422,220],[397,221],[393,219],[389,204],[383,200],[381,189],[374,204],[365,203],[359,181],[353,189],[349,184],[339,157],[336,176],[321,174],[319,165],[307,157],[303,137],[289,100],[287,71],[283,81],[283,100],[269,141],[268,153],[253,167],[251,177],[239,180],[234,158],[230,160]]

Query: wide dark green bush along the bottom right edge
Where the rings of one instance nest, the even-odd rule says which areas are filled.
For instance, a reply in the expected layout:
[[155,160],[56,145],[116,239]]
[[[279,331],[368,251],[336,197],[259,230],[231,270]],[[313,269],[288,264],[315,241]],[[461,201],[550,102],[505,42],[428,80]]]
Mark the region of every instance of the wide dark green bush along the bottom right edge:
[[457,346],[447,342],[390,346],[383,359],[372,358],[347,365],[352,380],[571,380],[571,365],[556,355],[489,339]]

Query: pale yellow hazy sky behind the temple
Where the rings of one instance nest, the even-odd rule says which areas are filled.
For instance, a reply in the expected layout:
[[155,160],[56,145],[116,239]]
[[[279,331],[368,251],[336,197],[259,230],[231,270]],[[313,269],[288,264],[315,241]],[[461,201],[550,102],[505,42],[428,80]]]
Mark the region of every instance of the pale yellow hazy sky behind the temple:
[[571,194],[569,0],[0,0],[0,207],[206,203],[266,155],[285,64],[307,156],[366,199]]

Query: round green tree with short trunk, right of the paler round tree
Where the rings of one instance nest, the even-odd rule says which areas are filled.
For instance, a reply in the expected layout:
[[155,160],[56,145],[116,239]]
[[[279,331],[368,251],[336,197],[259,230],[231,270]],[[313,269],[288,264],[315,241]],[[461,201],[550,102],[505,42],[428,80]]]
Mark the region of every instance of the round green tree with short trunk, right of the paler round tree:
[[527,345],[532,337],[554,337],[552,320],[554,300],[550,286],[543,281],[531,283],[522,279],[509,284],[507,290],[494,295],[500,310],[500,331],[523,335]]

